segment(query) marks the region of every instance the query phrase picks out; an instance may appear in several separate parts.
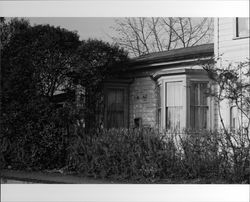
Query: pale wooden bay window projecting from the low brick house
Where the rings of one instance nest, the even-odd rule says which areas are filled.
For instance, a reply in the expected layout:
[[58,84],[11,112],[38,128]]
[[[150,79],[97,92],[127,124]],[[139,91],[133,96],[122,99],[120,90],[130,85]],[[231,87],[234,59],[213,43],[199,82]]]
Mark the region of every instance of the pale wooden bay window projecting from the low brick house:
[[158,125],[167,131],[213,129],[214,101],[208,96],[209,78],[202,70],[183,70],[183,74],[164,75],[158,84],[161,108]]

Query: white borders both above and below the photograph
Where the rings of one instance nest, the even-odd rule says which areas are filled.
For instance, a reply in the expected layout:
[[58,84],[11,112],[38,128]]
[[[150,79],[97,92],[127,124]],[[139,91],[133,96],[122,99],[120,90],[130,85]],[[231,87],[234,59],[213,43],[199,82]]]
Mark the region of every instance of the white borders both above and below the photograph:
[[[2,17],[249,17],[248,0],[0,1]],[[249,185],[11,185],[3,202],[248,202]]]

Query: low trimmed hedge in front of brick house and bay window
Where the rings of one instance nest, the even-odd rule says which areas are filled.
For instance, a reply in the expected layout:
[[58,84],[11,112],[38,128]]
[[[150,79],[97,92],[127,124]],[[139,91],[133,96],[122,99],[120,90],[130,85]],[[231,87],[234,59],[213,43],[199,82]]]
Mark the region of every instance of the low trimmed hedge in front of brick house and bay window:
[[120,180],[249,182],[249,144],[232,153],[222,141],[224,133],[211,131],[159,134],[148,129],[112,129],[84,134],[79,130],[69,147],[68,165],[89,176]]

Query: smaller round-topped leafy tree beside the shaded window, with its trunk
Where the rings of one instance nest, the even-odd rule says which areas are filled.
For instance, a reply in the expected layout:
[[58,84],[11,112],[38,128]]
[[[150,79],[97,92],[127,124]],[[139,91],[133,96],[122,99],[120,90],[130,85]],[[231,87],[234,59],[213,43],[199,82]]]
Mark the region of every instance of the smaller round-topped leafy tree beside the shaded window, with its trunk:
[[84,89],[84,114],[86,128],[100,124],[103,114],[103,82],[125,68],[128,53],[116,45],[89,39],[78,48],[78,64],[71,77]]

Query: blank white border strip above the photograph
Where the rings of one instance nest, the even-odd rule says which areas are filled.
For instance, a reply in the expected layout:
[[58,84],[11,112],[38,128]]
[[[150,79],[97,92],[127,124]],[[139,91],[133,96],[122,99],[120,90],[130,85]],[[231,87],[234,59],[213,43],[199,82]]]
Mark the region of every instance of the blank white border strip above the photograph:
[[248,0],[0,1],[4,17],[247,17]]

